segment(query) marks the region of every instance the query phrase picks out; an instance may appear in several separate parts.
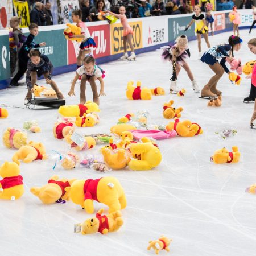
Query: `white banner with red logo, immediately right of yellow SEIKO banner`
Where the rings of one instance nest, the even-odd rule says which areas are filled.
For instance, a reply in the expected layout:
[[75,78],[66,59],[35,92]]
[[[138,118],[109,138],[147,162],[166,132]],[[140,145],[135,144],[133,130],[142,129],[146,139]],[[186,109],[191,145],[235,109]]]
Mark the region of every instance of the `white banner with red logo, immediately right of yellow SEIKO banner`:
[[143,47],[168,42],[168,22],[166,18],[147,18],[142,21]]

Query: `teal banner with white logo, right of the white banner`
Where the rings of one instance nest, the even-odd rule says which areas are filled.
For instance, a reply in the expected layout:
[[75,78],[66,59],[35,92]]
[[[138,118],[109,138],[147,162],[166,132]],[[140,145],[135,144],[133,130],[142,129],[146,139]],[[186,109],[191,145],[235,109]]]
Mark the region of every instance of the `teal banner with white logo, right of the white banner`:
[[180,35],[195,36],[195,22],[184,31],[189,22],[191,22],[191,16],[169,18],[168,19],[168,41],[174,41]]

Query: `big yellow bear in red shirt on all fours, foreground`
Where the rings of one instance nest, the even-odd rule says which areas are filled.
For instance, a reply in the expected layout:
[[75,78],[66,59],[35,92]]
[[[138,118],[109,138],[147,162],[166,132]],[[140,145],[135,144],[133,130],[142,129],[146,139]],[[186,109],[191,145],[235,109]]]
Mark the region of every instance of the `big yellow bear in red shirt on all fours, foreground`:
[[125,192],[115,177],[76,180],[65,191],[70,192],[73,203],[81,205],[90,214],[94,212],[93,200],[108,205],[109,213],[124,209],[127,205]]

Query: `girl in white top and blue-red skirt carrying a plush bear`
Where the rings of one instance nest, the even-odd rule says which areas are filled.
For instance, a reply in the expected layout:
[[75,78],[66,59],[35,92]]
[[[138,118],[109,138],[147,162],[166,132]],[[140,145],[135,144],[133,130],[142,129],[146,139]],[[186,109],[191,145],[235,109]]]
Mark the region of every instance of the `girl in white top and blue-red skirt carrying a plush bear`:
[[73,35],[72,38],[84,38],[79,47],[79,55],[77,56],[76,65],[77,68],[81,67],[82,60],[84,59],[86,54],[91,53],[93,48],[96,48],[96,43],[90,37],[90,32],[86,27],[85,23],[82,22],[82,12],[81,10],[75,10],[72,12],[72,20],[76,23],[77,27],[81,28],[81,35]]

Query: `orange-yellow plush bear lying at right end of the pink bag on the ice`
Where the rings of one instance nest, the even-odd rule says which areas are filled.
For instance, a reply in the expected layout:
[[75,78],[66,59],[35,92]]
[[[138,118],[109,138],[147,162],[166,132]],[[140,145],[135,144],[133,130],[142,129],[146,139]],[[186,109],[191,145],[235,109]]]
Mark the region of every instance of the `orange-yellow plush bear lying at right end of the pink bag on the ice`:
[[175,130],[177,135],[181,137],[192,137],[203,133],[203,130],[197,123],[189,120],[180,122],[178,118],[174,118],[174,122],[169,122],[166,126],[167,131]]

